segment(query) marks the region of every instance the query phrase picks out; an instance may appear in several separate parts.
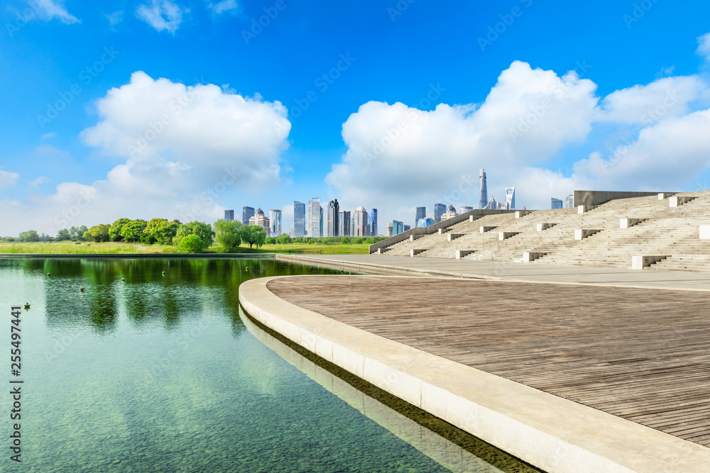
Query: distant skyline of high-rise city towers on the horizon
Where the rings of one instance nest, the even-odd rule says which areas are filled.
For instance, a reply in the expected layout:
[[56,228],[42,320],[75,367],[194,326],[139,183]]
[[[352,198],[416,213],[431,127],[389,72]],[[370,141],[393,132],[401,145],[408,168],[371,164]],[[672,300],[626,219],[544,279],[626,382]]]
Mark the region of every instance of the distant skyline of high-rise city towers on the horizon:
[[[488,199],[488,186],[486,184],[486,171],[481,169],[479,172],[479,206],[484,210],[514,210],[515,209],[515,187],[506,187],[505,202],[498,202],[491,194],[491,199]],[[561,199],[552,197],[550,208],[572,208],[574,200],[572,195],[565,197],[564,202]],[[427,217],[427,208],[425,206],[417,207],[415,210],[414,226],[428,227],[446,221],[461,213],[466,213],[474,210],[472,206],[461,206],[457,213],[454,206],[445,204],[434,204],[434,215]],[[241,223],[244,225],[258,225],[264,229],[267,236],[278,237],[283,234],[281,221],[281,211],[279,209],[271,209],[268,211],[268,216],[261,208],[254,210],[253,207],[244,206],[241,209]],[[229,209],[224,211],[225,221],[234,221],[234,210]],[[308,200],[308,203],[293,201],[293,226],[290,228],[292,238],[298,237],[338,237],[338,236],[354,236],[354,237],[376,237],[376,236],[394,236],[410,230],[412,226],[405,225],[403,221],[393,220],[386,224],[386,234],[378,233],[377,209],[370,208],[366,210],[364,207],[357,207],[354,211],[340,210],[338,199],[329,201],[326,206],[326,211],[320,203],[319,197],[313,197]]]

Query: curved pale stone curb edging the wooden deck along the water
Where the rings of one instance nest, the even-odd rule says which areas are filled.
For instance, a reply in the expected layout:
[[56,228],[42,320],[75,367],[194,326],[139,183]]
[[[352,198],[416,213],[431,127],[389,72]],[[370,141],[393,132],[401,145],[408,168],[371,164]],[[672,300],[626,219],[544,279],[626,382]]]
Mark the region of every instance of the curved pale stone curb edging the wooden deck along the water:
[[547,472],[708,471],[706,447],[307,311],[269,291],[272,279],[239,286],[256,320]]

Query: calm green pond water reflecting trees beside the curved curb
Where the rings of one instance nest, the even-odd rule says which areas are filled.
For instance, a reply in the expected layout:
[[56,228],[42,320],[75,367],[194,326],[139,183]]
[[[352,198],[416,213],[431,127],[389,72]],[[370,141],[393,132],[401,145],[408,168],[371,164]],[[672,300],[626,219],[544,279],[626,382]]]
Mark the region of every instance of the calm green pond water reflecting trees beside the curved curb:
[[[246,279],[330,273],[273,260],[0,260],[0,350],[10,349],[11,305],[31,304],[21,319],[23,461],[9,460],[5,441],[0,470],[501,471],[240,314]],[[7,439],[11,421],[0,419]]]

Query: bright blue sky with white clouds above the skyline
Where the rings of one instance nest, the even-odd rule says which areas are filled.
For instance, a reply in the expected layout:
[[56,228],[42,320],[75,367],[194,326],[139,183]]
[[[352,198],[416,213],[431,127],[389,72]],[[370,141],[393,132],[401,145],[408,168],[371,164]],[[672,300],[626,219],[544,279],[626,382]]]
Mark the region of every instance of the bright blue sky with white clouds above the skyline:
[[520,208],[707,189],[710,5],[679,3],[11,0],[0,234],[244,205],[288,231],[314,196],[383,230],[476,206],[481,167]]

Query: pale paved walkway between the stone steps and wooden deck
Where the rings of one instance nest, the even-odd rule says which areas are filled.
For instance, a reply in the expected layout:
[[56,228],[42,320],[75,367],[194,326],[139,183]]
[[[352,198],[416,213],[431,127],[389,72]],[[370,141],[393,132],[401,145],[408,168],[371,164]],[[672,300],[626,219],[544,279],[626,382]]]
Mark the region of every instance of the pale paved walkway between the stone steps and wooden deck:
[[653,289],[710,291],[710,273],[543,265],[500,261],[447,260],[388,255],[276,255],[277,260],[335,267],[368,274],[557,282]]

